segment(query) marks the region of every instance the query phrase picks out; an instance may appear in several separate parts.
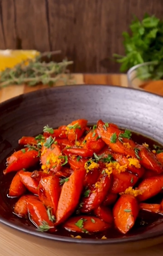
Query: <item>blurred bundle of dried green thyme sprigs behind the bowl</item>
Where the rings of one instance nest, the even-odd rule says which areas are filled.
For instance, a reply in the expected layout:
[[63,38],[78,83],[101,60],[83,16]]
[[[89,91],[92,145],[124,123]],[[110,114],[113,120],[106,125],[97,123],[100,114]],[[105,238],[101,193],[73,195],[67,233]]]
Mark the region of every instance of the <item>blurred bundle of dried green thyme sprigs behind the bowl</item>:
[[[36,56],[35,59],[27,59],[15,65],[14,68],[6,68],[0,73],[0,88],[11,84],[36,86],[42,83],[54,86],[57,81],[63,81],[66,84],[71,79],[69,76],[65,76],[69,73],[67,67],[73,64],[73,61],[49,61],[52,55],[58,53],[60,51],[44,52]],[[44,57],[48,59],[48,62],[43,61]]]

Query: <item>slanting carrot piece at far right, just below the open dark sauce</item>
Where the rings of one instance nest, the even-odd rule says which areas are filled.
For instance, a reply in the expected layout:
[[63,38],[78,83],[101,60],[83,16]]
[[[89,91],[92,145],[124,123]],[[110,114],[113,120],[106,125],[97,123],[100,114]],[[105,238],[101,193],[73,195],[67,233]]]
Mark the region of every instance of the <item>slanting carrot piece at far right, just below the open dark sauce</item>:
[[160,174],[163,171],[162,165],[158,162],[154,153],[148,151],[144,146],[138,146],[140,164],[147,169],[153,170],[154,172]]

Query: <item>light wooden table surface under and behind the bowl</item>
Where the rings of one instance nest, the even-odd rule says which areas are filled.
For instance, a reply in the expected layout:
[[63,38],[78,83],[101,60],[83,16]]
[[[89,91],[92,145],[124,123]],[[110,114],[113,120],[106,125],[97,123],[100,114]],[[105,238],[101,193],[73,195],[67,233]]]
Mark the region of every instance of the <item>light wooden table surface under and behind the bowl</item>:
[[[76,74],[74,75],[76,84],[113,84],[116,86],[127,87],[127,78],[125,74]],[[59,84],[62,85],[62,84]],[[27,86],[11,86],[0,90],[0,102],[9,98],[18,96],[19,94],[29,91],[39,90],[46,86],[27,87]],[[162,88],[150,88],[150,91],[163,95]],[[149,249],[144,249],[137,252],[121,253],[121,256],[161,256],[163,251],[163,244],[152,246]],[[23,236],[17,236],[14,232],[11,234],[10,230],[5,226],[0,226],[0,255],[1,256],[67,256],[63,251],[58,249],[50,249],[46,244],[39,246],[35,241],[28,242]],[[87,254],[90,255],[90,254]],[[87,256],[82,252],[78,252],[72,256]],[[113,253],[111,256],[117,254]],[[91,255],[93,256],[93,255]],[[100,255],[99,255],[100,256]]]

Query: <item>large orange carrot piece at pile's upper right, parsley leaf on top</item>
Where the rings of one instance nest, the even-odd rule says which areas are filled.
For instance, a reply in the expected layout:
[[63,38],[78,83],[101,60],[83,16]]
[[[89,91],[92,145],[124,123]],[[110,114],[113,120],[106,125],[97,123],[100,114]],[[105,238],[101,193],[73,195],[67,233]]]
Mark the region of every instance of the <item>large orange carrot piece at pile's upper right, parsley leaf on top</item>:
[[97,132],[98,132],[98,136],[101,136],[101,138],[105,141],[105,143],[114,152],[135,157],[134,147],[136,146],[136,144],[134,143],[134,141],[127,138],[121,138],[121,141],[122,141],[121,142],[118,139],[119,135],[123,134],[124,131],[121,131],[118,128],[115,128],[114,126],[106,127],[105,123],[99,120],[97,122]]

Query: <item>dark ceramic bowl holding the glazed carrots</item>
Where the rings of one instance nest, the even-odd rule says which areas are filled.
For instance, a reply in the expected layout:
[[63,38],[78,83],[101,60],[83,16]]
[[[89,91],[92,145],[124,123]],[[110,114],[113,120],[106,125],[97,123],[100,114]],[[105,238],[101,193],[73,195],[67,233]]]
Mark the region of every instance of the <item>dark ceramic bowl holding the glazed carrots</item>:
[[[57,127],[78,118],[94,124],[98,119],[114,122],[149,136],[163,144],[163,98],[144,91],[111,86],[66,86],[23,94],[0,105],[0,182],[4,159],[17,147],[22,136],[34,136],[45,125]],[[73,239],[39,233],[11,212],[0,185],[0,222],[18,236],[38,244],[49,244],[66,255],[107,255],[163,242],[161,221],[140,233],[116,239]]]

